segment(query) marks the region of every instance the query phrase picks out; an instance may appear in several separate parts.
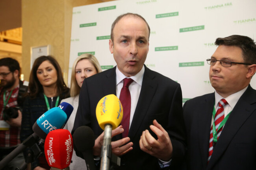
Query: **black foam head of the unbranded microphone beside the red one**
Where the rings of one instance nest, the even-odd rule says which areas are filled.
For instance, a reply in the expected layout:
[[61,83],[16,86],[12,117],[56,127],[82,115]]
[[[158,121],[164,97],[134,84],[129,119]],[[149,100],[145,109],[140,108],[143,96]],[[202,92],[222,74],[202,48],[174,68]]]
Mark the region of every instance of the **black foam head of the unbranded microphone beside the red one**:
[[74,146],[80,152],[92,150],[95,143],[93,130],[88,126],[80,126],[73,133]]

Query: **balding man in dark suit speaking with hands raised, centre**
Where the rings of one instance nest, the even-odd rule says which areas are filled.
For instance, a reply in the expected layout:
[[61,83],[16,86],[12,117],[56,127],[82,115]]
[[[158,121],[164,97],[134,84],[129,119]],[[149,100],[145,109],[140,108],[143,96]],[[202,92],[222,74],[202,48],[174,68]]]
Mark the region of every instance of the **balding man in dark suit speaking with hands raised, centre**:
[[[122,125],[112,130],[112,152],[121,156],[119,169],[122,170],[174,167],[185,154],[180,84],[144,65],[149,34],[150,28],[142,16],[127,13],[117,17],[112,24],[109,40],[109,50],[117,66],[85,79],[80,91],[73,132],[79,126],[90,126],[97,137],[93,154],[100,156],[103,131],[96,120],[96,105],[105,95],[115,94],[119,97],[124,79],[133,80],[129,86],[131,107],[128,136],[122,137]],[[147,130],[149,126],[152,131]],[[140,148],[141,135],[143,143],[141,141]]]

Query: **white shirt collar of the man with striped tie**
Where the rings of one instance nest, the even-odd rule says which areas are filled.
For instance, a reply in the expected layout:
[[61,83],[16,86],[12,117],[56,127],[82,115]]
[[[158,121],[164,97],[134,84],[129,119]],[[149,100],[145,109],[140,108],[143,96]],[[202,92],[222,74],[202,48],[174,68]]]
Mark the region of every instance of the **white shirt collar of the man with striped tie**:
[[248,86],[246,86],[243,90],[237,91],[236,93],[229,95],[228,97],[224,98],[221,95],[219,95],[216,91],[215,91],[215,105],[214,107],[217,107],[218,102],[221,99],[225,99],[228,104],[230,105],[230,107],[233,108],[236,106],[236,103],[238,102],[238,100],[240,99],[240,97],[243,95],[243,93],[245,92],[245,90],[248,88]]

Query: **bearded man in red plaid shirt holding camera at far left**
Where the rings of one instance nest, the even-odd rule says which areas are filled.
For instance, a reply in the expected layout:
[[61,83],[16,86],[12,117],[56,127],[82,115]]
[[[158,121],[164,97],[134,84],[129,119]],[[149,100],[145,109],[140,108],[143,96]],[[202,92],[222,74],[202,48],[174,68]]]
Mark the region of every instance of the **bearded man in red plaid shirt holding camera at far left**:
[[[26,87],[19,79],[19,62],[13,58],[0,59],[0,160],[20,144],[22,114],[13,108],[22,106],[22,93]],[[3,170],[15,170],[24,163],[20,153]]]

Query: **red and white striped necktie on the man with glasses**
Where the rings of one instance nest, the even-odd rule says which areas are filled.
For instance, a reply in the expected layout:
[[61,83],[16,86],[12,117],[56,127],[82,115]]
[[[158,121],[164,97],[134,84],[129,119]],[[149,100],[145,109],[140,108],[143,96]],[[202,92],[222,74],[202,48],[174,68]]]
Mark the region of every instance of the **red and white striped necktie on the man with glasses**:
[[[216,112],[215,117],[214,117],[214,122],[213,122],[215,124],[215,127],[216,127],[217,139],[219,139],[219,136],[221,135],[221,131],[222,131],[223,127],[221,127],[219,129],[219,125],[221,124],[221,122],[223,121],[223,119],[225,117],[224,116],[224,106],[226,104],[228,104],[228,102],[225,99],[221,99],[218,104],[219,104],[219,106],[218,106],[217,112]],[[208,163],[211,159],[211,154],[212,153],[213,153],[213,130],[212,130],[212,125],[211,125],[208,160],[207,160]]]

